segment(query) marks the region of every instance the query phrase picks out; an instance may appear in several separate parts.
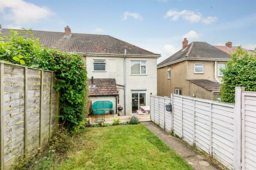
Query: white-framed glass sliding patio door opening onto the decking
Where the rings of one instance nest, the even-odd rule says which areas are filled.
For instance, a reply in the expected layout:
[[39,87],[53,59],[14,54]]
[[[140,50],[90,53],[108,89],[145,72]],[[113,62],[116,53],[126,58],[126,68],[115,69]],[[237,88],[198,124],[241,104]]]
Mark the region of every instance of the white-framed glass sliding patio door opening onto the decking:
[[132,91],[132,114],[140,110],[140,106],[146,105],[146,91]]

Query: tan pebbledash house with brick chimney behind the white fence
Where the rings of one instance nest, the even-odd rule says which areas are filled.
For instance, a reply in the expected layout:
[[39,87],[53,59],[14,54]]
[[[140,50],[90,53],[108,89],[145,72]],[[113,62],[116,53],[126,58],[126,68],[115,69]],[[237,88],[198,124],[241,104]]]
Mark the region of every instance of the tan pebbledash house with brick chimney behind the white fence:
[[[220,97],[222,68],[237,47],[212,46],[184,39],[182,49],[157,65],[158,95],[171,93],[217,100]],[[245,49],[244,49],[245,50]],[[246,50],[248,53],[252,51]]]

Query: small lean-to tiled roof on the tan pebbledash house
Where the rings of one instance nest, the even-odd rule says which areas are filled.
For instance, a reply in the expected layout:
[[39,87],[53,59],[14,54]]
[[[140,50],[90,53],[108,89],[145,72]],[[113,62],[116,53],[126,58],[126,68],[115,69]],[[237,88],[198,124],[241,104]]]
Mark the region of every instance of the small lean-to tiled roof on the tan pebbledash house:
[[188,80],[193,82],[194,84],[201,86],[202,88],[213,91],[213,92],[219,92],[220,91],[220,83],[219,82],[214,82],[210,81],[207,79],[193,79],[193,80]]

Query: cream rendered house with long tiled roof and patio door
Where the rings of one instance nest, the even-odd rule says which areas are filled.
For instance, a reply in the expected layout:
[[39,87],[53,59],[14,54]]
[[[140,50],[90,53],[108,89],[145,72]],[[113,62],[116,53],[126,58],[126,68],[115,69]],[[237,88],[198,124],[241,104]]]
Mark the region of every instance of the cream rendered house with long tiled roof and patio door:
[[[9,36],[11,29],[0,30],[0,36]],[[14,30],[25,35],[23,30]],[[141,105],[149,105],[149,95],[157,93],[154,82],[157,81],[157,59],[160,54],[109,35],[73,33],[68,26],[64,32],[31,30],[31,33],[39,39],[41,46],[83,57],[88,72],[89,97],[93,101],[111,100],[116,108],[117,98],[117,106],[124,108],[122,113],[130,115],[136,114]],[[91,77],[95,84],[90,84]],[[116,84],[116,88],[113,88],[113,84]]]

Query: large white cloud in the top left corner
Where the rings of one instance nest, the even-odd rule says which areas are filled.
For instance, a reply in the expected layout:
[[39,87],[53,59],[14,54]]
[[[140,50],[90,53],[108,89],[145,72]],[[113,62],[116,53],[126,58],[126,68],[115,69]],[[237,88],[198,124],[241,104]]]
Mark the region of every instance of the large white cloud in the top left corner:
[[37,22],[54,14],[47,7],[39,7],[23,0],[0,1],[0,14],[2,18],[12,21],[15,25]]

